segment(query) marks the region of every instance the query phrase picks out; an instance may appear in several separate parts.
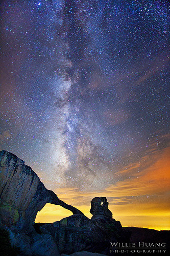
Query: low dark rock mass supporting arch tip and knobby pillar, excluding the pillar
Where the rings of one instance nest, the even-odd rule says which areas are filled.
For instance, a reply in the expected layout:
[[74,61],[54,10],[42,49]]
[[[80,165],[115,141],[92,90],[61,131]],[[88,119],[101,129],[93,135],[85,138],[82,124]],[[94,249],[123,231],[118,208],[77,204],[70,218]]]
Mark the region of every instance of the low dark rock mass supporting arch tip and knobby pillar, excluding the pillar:
[[91,220],[83,215],[72,215],[53,224],[44,224],[40,230],[52,234],[59,252],[69,255],[80,250],[99,249],[101,252],[109,246],[110,240],[116,242],[122,236],[120,222],[102,215],[95,215]]

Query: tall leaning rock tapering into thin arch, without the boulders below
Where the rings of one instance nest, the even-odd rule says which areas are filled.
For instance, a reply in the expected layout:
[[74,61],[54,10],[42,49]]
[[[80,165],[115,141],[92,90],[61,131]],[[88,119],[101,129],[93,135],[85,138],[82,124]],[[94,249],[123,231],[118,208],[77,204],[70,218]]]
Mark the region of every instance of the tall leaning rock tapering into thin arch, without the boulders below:
[[46,189],[31,167],[24,163],[7,151],[0,152],[0,218],[3,225],[13,230],[30,229],[37,212],[46,203],[61,205],[73,214],[83,215]]

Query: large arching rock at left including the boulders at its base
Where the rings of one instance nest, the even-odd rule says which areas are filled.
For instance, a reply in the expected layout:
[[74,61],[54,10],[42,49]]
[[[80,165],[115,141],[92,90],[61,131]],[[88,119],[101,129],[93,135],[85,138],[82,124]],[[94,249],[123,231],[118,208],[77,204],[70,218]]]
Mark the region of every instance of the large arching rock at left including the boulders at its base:
[[31,167],[7,151],[0,152],[0,181],[0,227],[9,231],[12,245],[22,255],[59,255],[51,234],[37,236],[33,227],[37,212],[52,203],[73,214],[83,213],[46,189]]

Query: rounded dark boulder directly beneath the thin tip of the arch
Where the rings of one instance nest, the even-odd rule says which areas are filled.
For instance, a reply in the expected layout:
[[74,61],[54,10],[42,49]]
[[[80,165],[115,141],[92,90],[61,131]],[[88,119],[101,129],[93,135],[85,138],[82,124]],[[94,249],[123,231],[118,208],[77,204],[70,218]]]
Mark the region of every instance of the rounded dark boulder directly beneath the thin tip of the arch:
[[52,234],[60,253],[73,253],[86,248],[93,240],[91,221],[83,215],[72,215],[53,224],[44,224],[40,230]]

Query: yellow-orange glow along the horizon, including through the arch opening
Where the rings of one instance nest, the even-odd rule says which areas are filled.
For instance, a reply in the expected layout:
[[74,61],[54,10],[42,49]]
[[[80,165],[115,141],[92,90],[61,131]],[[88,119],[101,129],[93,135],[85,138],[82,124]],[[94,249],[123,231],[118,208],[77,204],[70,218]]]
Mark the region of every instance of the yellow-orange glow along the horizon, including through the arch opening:
[[[157,230],[169,230],[169,195],[170,195],[170,147],[154,153],[154,161],[143,168],[139,174],[136,162],[115,175],[127,177],[101,191],[79,191],[78,188],[59,188],[55,191],[64,202],[80,209],[91,218],[90,200],[93,197],[107,197],[109,209],[113,218],[119,220],[122,226],[136,226]],[[143,164],[146,159],[143,159]],[[149,161],[149,159],[147,160]],[[61,220],[72,215],[72,212],[51,204],[46,204],[38,213],[36,222]]]

